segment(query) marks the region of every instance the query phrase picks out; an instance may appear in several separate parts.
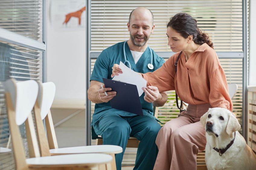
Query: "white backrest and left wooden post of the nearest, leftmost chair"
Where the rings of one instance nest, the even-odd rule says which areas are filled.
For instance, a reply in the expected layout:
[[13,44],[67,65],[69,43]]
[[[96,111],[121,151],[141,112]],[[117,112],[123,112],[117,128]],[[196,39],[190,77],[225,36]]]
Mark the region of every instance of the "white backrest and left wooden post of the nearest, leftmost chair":
[[8,113],[9,128],[16,169],[26,169],[24,146],[18,125],[21,125],[31,115],[31,110],[37,98],[38,85],[34,80],[16,82],[8,79],[5,82],[5,99]]

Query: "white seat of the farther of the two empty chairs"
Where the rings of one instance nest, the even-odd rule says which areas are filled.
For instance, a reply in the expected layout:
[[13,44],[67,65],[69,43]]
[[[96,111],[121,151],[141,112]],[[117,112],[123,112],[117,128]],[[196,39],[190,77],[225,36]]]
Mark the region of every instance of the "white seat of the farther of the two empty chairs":
[[106,153],[117,154],[123,152],[123,148],[116,145],[94,145],[81,147],[66,147],[50,149],[51,154],[72,154],[72,153]]

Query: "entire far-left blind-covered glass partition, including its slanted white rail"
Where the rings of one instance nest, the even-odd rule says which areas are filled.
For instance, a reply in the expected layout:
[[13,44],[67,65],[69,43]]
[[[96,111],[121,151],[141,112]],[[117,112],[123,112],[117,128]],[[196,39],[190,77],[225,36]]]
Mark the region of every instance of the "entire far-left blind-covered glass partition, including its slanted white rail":
[[[5,107],[4,81],[43,81],[43,0],[0,0],[0,147],[12,149]],[[11,35],[11,36],[10,36]],[[6,37],[11,37],[6,39]],[[37,40],[37,41],[34,41]],[[28,146],[24,124],[20,126],[25,153]],[[1,153],[0,169],[15,169],[14,155]]]

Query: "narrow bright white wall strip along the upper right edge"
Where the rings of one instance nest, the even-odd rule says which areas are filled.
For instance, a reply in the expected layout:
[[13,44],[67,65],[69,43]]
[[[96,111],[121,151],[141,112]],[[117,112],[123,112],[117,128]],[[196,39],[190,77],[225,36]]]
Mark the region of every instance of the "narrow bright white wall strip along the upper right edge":
[[249,76],[248,85],[256,85],[256,1],[249,1]]

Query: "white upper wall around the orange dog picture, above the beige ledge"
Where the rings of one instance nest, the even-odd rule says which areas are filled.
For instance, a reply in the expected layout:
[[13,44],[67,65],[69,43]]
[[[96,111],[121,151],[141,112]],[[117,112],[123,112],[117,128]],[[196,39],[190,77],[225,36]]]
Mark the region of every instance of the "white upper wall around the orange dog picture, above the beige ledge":
[[65,15],[60,15],[63,11],[78,10],[74,2],[47,1],[47,82],[56,85],[53,106],[85,108],[86,11],[82,15],[83,26],[78,26],[77,18],[71,18],[67,26],[62,25]]

